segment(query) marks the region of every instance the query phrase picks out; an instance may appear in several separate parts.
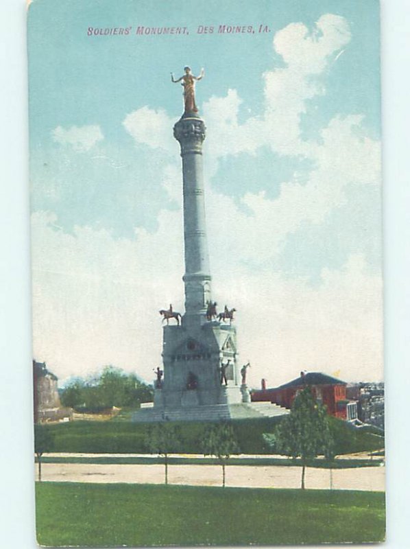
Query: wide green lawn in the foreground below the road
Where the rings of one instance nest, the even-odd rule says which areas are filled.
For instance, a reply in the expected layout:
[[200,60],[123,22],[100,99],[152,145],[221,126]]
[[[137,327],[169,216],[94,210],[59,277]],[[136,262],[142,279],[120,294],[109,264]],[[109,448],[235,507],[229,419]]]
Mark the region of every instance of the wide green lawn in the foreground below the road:
[[383,493],[130,484],[36,485],[45,546],[383,541]]

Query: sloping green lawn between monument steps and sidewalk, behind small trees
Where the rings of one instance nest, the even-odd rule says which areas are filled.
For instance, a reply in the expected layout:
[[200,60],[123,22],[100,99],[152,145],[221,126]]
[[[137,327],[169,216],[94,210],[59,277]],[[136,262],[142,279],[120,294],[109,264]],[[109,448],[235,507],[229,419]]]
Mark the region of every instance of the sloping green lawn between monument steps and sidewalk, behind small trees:
[[[262,434],[272,432],[280,417],[232,421],[232,428],[243,454],[269,454]],[[175,425],[175,423],[173,423]],[[202,432],[206,423],[186,422],[180,425],[183,439],[180,454],[199,454]],[[345,421],[330,418],[335,438],[336,454],[371,452],[384,447],[383,437],[354,429]],[[152,424],[131,421],[72,421],[48,425],[54,435],[53,452],[83,452],[87,454],[145,454],[145,442]]]

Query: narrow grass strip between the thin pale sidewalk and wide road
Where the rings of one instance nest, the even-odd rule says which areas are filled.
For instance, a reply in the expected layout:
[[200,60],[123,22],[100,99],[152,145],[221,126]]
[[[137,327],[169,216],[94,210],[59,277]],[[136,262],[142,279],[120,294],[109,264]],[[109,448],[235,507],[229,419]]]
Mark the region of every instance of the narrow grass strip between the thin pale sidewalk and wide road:
[[[37,461],[37,458],[36,458]],[[164,463],[164,458],[160,456],[43,456],[42,463],[94,463],[99,465],[153,465]],[[169,465],[219,465],[216,458],[180,458],[169,457]],[[384,463],[381,459],[343,459],[335,461],[326,461],[324,459],[312,459],[307,462],[308,467],[317,467],[319,469],[354,469],[357,467],[380,467]],[[228,465],[252,465],[256,467],[265,467],[267,465],[279,465],[283,467],[302,467],[300,459],[290,458],[235,458],[232,456]]]

